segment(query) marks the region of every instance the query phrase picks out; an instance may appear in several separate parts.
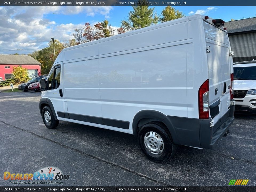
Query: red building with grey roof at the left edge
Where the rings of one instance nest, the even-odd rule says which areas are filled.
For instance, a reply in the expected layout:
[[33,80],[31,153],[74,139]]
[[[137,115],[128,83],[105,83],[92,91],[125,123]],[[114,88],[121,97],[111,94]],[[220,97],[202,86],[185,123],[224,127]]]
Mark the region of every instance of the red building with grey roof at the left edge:
[[13,67],[26,68],[29,77],[41,75],[41,63],[29,55],[1,55],[0,54],[0,80],[11,79]]

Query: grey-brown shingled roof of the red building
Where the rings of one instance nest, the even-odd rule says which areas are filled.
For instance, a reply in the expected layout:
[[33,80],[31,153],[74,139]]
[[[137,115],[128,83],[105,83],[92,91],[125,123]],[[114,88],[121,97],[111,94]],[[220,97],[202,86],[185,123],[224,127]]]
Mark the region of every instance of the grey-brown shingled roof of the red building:
[[1,55],[0,64],[42,65],[29,55]]

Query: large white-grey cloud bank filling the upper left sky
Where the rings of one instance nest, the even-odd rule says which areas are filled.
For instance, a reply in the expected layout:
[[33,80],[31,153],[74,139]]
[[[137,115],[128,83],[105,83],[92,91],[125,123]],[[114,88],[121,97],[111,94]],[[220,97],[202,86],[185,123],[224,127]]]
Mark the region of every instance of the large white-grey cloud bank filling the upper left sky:
[[[0,7],[0,54],[32,53],[47,46],[51,37],[70,40],[74,29],[84,23],[56,23],[45,19],[47,14],[97,14],[109,18],[111,6],[5,6]],[[86,18],[84,19],[85,22]],[[91,23],[91,22],[90,22]],[[13,50],[13,51],[11,51]]]

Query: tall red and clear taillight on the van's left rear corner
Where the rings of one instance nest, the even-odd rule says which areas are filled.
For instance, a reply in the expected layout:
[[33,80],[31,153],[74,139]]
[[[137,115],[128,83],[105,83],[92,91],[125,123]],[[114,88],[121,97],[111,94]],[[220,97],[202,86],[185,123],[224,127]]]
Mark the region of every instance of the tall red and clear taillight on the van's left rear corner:
[[209,118],[209,79],[207,79],[198,91],[199,119]]

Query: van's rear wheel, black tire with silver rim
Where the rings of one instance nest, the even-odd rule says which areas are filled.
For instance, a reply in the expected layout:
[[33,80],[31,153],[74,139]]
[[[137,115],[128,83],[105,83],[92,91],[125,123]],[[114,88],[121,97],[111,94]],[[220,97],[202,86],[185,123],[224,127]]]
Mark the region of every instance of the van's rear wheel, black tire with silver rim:
[[177,147],[166,126],[158,122],[143,125],[139,130],[138,142],[146,157],[159,163],[169,161]]

